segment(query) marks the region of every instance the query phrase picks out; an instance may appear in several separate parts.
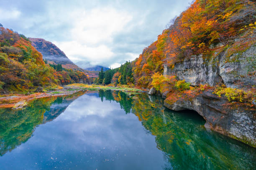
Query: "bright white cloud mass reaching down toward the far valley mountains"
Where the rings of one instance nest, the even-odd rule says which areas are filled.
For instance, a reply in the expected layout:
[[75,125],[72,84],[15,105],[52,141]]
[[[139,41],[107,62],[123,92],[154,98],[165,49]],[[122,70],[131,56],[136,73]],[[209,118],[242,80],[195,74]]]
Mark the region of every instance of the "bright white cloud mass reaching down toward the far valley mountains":
[[[111,49],[113,35],[122,31],[132,20],[125,11],[114,8],[77,10],[70,31],[72,41],[54,42],[73,61],[86,60],[92,65],[102,65],[115,53]],[[106,65],[108,66],[108,65]]]

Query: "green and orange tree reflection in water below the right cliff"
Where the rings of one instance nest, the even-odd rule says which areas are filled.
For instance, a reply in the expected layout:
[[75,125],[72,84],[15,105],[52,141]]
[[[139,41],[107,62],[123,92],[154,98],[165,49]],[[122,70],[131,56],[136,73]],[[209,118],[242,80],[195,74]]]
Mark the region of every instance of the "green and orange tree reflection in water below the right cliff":
[[[130,98],[123,92],[102,92],[106,100],[120,103],[125,112],[132,112],[152,135],[157,148],[175,170],[253,169],[255,149],[204,128],[205,121],[196,112],[174,112],[163,107],[160,97],[146,94]],[[150,97],[150,98],[149,98]],[[102,98],[103,99],[103,98]],[[167,166],[168,167],[168,166]]]

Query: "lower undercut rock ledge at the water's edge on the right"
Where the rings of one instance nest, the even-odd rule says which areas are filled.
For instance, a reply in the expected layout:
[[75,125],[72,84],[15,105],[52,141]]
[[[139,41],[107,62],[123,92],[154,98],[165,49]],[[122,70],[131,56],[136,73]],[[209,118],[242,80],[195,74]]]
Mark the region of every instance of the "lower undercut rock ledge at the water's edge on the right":
[[192,101],[180,99],[173,104],[164,101],[164,106],[172,110],[195,110],[206,120],[205,128],[256,147],[256,113],[227,104],[226,98],[216,97],[212,92],[204,92]]

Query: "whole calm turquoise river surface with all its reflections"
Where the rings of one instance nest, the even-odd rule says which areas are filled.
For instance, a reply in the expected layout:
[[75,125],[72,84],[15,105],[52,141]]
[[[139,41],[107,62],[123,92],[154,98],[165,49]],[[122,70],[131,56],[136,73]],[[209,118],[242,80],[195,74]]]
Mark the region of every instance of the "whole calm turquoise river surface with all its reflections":
[[253,170],[256,150],[159,97],[100,90],[0,110],[0,170]]

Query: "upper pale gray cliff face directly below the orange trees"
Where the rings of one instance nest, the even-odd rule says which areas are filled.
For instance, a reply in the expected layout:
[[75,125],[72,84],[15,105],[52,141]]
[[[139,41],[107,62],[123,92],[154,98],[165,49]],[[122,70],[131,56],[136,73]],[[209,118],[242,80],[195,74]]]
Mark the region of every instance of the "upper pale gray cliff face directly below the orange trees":
[[[252,45],[242,54],[228,56],[227,50],[217,58],[205,61],[202,55],[191,56],[181,63],[176,63],[174,69],[164,65],[164,75],[176,75],[180,80],[186,80],[191,85],[224,83],[227,87],[246,88],[256,85],[256,45]],[[227,58],[229,60],[226,62]]]

